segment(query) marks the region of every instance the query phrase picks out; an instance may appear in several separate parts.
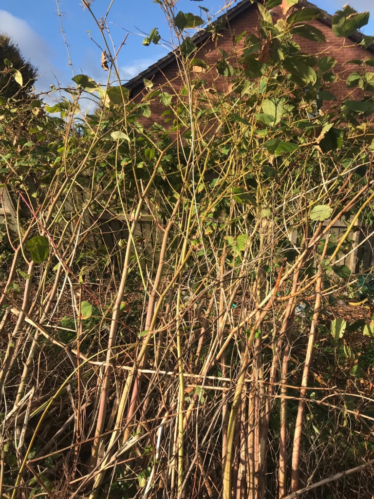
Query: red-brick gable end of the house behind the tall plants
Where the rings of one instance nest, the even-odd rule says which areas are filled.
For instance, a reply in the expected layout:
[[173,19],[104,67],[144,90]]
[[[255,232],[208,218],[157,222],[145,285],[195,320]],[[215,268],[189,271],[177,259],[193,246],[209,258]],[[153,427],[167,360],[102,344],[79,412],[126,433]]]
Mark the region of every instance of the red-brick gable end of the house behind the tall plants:
[[[298,7],[314,7],[314,4],[308,1],[301,1]],[[357,89],[349,89],[346,86],[345,78],[347,74],[354,71],[357,66],[355,64],[344,64],[352,59],[367,59],[373,57],[374,44],[368,48],[359,46],[357,43],[361,41],[362,35],[359,33],[348,38],[338,38],[332,31],[332,16],[327,12],[322,11],[322,16],[308,24],[315,26],[326,37],[325,42],[315,42],[302,38],[301,36],[294,35],[294,40],[300,45],[301,50],[313,56],[329,55],[337,60],[334,67],[334,73],[338,77],[337,81],[330,85],[331,91],[335,94],[338,100],[342,100],[352,93],[355,98],[363,97],[363,91]],[[274,23],[282,17],[280,7],[271,9]],[[225,27],[219,31],[219,36],[214,40],[210,32],[202,31],[196,33],[192,40],[197,46],[195,57],[204,60],[209,69],[204,73],[197,73],[196,76],[204,78],[207,86],[213,87],[217,91],[224,91],[228,89],[230,79],[224,76],[219,76],[215,69],[215,63],[221,57],[221,50],[229,54],[230,60],[235,61],[236,56],[242,53],[243,41],[234,46],[233,40],[243,31],[246,34],[255,33],[258,30],[260,13],[257,7],[257,2],[252,3],[250,0],[242,0],[234,7],[227,10],[221,15],[213,25],[224,25]],[[201,71],[197,68],[197,71]],[[131,79],[124,86],[131,91],[131,97],[135,102],[139,102],[145,91],[144,79],[151,80],[154,88],[162,87],[164,91],[176,94],[183,86],[183,79],[181,77],[181,67],[179,64],[179,56],[176,52],[170,52],[168,55],[152,64],[145,71],[142,71],[138,76]],[[152,117],[149,120],[150,124],[155,121],[163,123],[161,114],[165,111],[165,107],[161,103],[152,104]]]

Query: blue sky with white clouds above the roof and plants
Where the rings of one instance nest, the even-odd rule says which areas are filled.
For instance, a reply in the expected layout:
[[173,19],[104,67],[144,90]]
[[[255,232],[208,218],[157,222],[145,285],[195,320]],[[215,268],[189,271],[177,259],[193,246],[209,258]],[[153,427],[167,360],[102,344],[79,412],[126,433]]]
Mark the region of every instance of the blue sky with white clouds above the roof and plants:
[[[93,0],[91,6],[97,18],[105,15],[110,3],[111,0]],[[224,0],[179,0],[177,6],[185,12],[199,13],[198,5],[201,4],[215,14],[225,3]],[[346,0],[315,0],[314,3],[334,13]],[[355,0],[351,4],[358,11],[372,10],[370,24],[364,31],[374,35],[374,0]],[[106,75],[100,67],[100,49],[87,33],[89,30],[92,38],[102,44],[101,34],[91,14],[83,7],[81,0],[59,0],[59,8],[74,73],[84,73],[96,81],[105,81]],[[71,82],[72,71],[57,12],[56,0],[0,0],[0,31],[8,32],[25,57],[39,67],[37,87],[41,90],[49,89],[49,85],[56,84],[56,80],[63,86]],[[161,45],[142,45],[142,36],[136,34],[149,33],[152,28],[158,27],[162,37],[170,39],[164,14],[153,0],[113,0],[108,22],[117,47],[127,31],[130,32],[119,55],[124,79],[137,75],[168,52]]]

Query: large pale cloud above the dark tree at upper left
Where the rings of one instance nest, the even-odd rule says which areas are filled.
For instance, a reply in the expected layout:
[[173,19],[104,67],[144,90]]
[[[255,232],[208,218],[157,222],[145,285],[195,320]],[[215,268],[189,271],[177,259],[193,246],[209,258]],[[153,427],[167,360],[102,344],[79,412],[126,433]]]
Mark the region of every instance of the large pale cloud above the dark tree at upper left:
[[0,31],[7,33],[18,44],[25,59],[38,68],[37,90],[50,90],[49,85],[56,83],[53,74],[59,78],[60,71],[52,63],[53,51],[48,42],[26,21],[6,10],[0,10]]

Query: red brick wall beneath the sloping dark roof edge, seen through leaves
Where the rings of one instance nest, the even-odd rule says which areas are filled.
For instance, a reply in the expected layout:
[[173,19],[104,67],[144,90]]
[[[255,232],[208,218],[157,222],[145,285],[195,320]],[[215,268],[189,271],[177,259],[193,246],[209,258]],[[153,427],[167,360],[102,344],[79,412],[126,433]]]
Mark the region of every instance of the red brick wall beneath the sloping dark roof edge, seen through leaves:
[[[218,91],[224,91],[228,88],[229,78],[219,76],[215,69],[215,63],[221,57],[218,47],[225,50],[230,57],[232,57],[231,63],[235,65],[235,53],[240,55],[243,47],[243,41],[238,46],[234,47],[232,40],[243,31],[247,31],[247,34],[251,32],[256,34],[259,15],[257,6],[255,4],[249,4],[246,10],[239,13],[230,21],[228,30],[223,31],[215,41],[209,38],[208,41],[199,47],[195,57],[204,59],[210,67],[210,69],[205,71],[203,74],[204,80],[208,83],[207,86],[214,87]],[[274,23],[279,17],[281,17],[280,7],[274,9]],[[337,38],[332,32],[330,26],[319,20],[311,21],[311,24],[324,33],[326,42],[314,42],[299,36],[295,36],[294,39],[306,53],[317,55],[319,57],[331,55],[337,60],[337,64],[333,68],[333,71],[338,78],[335,83],[330,84],[332,92],[336,95],[338,100],[347,98],[350,94],[354,94],[356,97],[360,95],[361,92],[363,95],[362,91],[358,92],[357,89],[352,90],[347,88],[345,82],[347,73],[349,74],[350,72],[356,70],[357,66],[354,64],[343,65],[343,63],[351,59],[369,58],[372,57],[373,54],[365,50],[363,47],[354,46],[354,42],[347,38]],[[174,59],[169,65],[156,72],[151,78],[154,83],[154,89],[163,87],[166,92],[178,95],[181,87],[183,86],[181,70],[182,68],[179,67],[178,61]],[[201,77],[202,74],[197,73],[196,76]],[[143,83],[140,83],[132,90],[131,95],[135,101],[139,102],[142,99],[144,92],[144,85]],[[151,107],[152,116],[144,119],[144,124],[146,126],[152,125],[155,121],[163,124],[165,119],[168,117],[161,116],[161,114],[166,110],[166,107],[158,102],[152,103]]]

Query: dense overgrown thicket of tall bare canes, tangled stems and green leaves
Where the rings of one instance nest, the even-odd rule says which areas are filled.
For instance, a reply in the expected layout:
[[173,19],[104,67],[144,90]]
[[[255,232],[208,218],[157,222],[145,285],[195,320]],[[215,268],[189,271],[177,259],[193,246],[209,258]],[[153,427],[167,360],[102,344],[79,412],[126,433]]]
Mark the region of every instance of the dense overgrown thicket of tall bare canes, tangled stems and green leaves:
[[334,101],[336,60],[294,38],[324,40],[318,9],[259,4],[207,67],[203,19],[157,3],[175,94],[129,97],[102,20],[116,83],[47,106],[2,66],[0,498],[372,498],[372,269],[347,262],[373,225],[373,59]]

